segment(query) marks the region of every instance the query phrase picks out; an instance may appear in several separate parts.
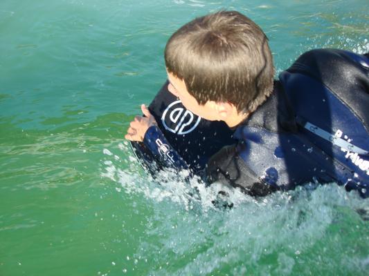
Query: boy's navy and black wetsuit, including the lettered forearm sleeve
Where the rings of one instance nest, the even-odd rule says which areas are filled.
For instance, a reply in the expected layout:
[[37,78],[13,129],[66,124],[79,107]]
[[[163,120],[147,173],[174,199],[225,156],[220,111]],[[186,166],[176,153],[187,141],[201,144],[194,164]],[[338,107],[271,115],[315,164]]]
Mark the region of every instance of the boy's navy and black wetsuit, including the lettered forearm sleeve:
[[[204,161],[217,150],[205,168],[208,184],[220,181],[251,195],[267,195],[307,182],[334,181],[368,197],[368,64],[367,57],[343,50],[306,52],[280,74],[271,97],[237,127],[233,137],[229,128],[219,125],[226,135],[219,137],[226,139],[218,144],[212,143],[213,137],[205,139],[210,150],[195,170],[204,168]],[[172,121],[176,118],[174,112]],[[186,146],[186,140],[179,143],[178,136],[168,135],[168,126],[159,124],[159,128],[147,132],[146,147],[164,166],[166,162],[195,171],[186,152],[191,153],[192,161],[194,153],[201,156],[201,152]],[[215,130],[209,131],[211,135]],[[157,135],[161,135],[159,143],[154,138]],[[201,135],[194,135],[190,144],[201,141]],[[223,147],[226,144],[229,146]]]

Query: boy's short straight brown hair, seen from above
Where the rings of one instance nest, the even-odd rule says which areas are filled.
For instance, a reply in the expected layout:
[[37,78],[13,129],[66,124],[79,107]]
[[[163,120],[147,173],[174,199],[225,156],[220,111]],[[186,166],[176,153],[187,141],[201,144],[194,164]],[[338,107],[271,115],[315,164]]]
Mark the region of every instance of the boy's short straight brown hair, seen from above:
[[201,106],[232,103],[237,112],[253,112],[273,90],[267,37],[240,12],[216,12],[179,28],[165,47],[165,66]]

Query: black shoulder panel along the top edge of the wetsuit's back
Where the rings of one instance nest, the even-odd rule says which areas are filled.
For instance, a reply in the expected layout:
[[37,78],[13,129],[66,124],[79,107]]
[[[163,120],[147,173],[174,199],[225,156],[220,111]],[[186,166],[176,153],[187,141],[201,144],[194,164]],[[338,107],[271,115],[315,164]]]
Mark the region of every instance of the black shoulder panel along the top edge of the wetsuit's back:
[[350,108],[369,131],[369,59],[346,50],[315,49],[285,72],[312,77]]

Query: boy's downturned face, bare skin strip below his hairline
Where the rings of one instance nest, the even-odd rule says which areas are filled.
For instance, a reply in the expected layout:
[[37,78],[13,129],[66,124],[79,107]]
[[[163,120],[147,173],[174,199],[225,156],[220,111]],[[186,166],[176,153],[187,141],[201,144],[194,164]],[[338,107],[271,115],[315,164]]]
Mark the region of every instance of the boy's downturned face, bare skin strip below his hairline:
[[176,97],[178,97],[183,106],[190,110],[195,115],[207,119],[209,121],[219,121],[222,118],[219,118],[215,110],[215,101],[207,101],[203,106],[197,103],[195,97],[190,95],[187,90],[186,83],[177,77],[175,77],[172,73],[168,72],[168,90]]

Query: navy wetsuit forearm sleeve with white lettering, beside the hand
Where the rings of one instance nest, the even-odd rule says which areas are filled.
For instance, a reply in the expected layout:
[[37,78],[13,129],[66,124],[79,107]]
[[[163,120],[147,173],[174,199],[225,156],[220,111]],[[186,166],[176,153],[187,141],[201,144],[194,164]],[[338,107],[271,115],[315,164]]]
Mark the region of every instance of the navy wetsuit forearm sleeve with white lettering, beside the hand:
[[164,168],[186,170],[188,166],[182,157],[165,139],[158,126],[150,126],[145,133],[143,143],[152,152],[156,160],[159,160]]

